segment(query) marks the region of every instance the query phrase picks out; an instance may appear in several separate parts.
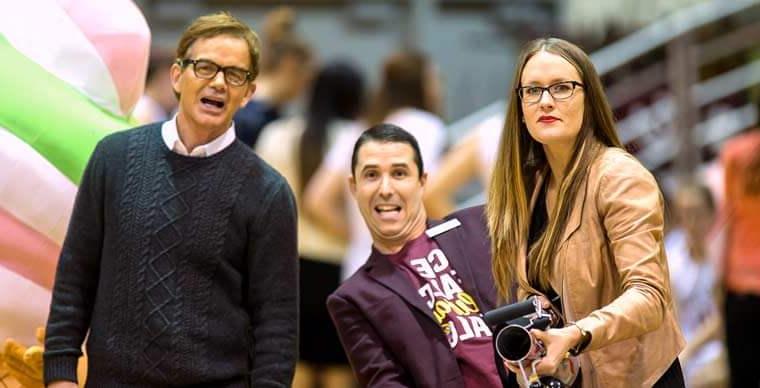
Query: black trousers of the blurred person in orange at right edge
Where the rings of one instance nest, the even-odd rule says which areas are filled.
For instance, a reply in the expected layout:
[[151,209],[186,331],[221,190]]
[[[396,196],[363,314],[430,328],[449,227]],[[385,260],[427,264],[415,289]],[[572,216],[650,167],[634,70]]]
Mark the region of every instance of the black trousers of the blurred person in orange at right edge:
[[732,387],[760,387],[760,296],[726,294],[726,349]]

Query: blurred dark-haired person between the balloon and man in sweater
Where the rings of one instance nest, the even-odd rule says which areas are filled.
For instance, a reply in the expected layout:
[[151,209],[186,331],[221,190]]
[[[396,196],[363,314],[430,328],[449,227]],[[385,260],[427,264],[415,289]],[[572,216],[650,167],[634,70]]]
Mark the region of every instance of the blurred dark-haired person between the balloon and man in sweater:
[[145,77],[145,93],[137,101],[132,117],[138,124],[165,121],[177,109],[177,97],[172,90],[170,69],[174,56],[170,52],[153,50]]

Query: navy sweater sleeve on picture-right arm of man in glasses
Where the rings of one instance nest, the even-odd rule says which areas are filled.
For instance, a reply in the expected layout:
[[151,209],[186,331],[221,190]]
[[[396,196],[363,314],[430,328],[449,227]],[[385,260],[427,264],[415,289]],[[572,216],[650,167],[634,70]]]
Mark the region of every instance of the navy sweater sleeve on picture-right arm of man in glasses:
[[296,206],[279,180],[261,215],[249,227],[248,312],[254,387],[290,387],[298,339]]

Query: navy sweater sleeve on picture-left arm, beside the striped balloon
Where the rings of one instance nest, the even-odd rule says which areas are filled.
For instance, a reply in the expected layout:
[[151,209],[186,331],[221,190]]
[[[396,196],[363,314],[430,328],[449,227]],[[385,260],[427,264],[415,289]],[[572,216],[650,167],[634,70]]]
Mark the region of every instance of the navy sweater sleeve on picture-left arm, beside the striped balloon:
[[77,381],[77,361],[98,285],[105,165],[99,143],[82,176],[56,270],[45,331],[44,379]]

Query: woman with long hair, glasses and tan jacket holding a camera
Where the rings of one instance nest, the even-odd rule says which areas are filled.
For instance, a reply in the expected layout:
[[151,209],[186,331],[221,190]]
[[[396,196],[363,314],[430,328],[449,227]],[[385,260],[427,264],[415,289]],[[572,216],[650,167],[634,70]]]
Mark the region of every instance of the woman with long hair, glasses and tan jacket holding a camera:
[[[682,387],[654,177],[622,147],[588,56],[555,38],[518,59],[487,216],[505,300],[557,300],[539,375],[579,355],[583,387]],[[578,380],[576,380],[578,381]]]

